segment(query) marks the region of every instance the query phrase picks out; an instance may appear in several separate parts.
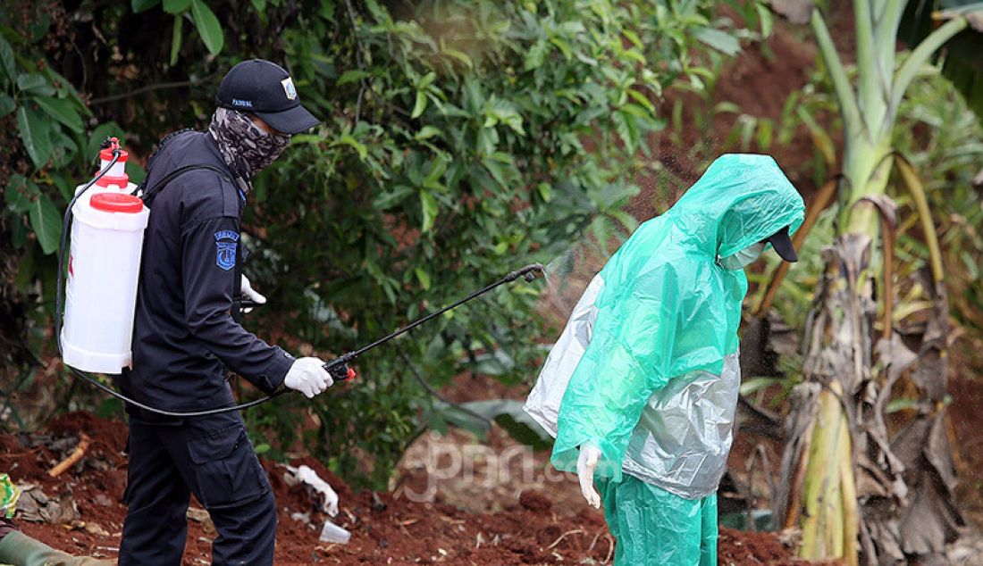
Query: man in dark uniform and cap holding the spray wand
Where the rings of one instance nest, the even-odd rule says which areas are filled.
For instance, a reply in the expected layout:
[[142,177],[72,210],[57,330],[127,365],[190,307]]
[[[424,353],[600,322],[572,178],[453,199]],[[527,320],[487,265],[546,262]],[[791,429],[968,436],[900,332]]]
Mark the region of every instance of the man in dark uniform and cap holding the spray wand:
[[[267,394],[283,385],[311,398],[332,383],[322,361],[295,360],[233,316],[240,289],[264,301],[239,269],[239,223],[252,179],[291,134],[318,120],[301,106],[287,72],[258,59],[226,75],[216,102],[207,132],[186,131],[161,143],[145,184],[151,213],[133,368],[124,372],[120,388],[170,412],[231,406],[223,367]],[[155,187],[189,165],[209,168],[187,170]],[[218,532],[215,564],[272,564],[276,505],[239,414],[173,418],[133,406],[128,413],[129,508],[119,563],[180,564],[194,493]]]

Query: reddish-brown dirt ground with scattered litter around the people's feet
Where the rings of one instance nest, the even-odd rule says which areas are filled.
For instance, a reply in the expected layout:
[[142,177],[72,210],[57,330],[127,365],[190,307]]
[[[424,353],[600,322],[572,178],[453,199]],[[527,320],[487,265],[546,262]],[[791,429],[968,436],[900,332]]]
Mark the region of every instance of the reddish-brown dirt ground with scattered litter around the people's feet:
[[[67,457],[85,433],[91,442],[83,459],[59,478],[48,470]],[[52,523],[15,518],[29,536],[78,555],[114,558],[126,508],[121,502],[126,485],[126,426],[88,413],[72,413],[52,422],[38,434],[0,435],[0,470],[22,484],[32,484],[58,505]],[[552,564],[609,563],[613,542],[604,516],[571,498],[557,502],[542,490],[518,494],[495,492],[498,509],[473,512],[443,502],[412,501],[408,482],[393,493],[354,493],[344,481],[313,459],[307,464],[337,491],[340,509],[336,524],[351,531],[347,544],[318,541],[326,516],[301,486],[283,480],[282,466],[263,462],[279,507],[277,564]],[[554,489],[575,494],[572,482]],[[418,491],[419,492],[419,491]],[[572,497],[572,495],[571,495]],[[419,499],[419,497],[414,497]],[[197,502],[192,507],[200,509]],[[310,522],[298,517],[307,515]],[[189,519],[184,564],[210,562],[215,537],[200,512]],[[791,558],[789,548],[775,535],[723,530],[721,564],[806,564]]]

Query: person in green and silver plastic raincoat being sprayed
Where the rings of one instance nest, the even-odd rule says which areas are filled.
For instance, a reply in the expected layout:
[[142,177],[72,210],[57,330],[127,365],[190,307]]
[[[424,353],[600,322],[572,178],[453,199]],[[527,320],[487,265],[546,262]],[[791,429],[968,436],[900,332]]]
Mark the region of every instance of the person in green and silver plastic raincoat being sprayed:
[[525,409],[604,502],[616,564],[717,564],[743,267],[796,260],[804,211],[772,157],[723,155],[607,261],[550,351]]

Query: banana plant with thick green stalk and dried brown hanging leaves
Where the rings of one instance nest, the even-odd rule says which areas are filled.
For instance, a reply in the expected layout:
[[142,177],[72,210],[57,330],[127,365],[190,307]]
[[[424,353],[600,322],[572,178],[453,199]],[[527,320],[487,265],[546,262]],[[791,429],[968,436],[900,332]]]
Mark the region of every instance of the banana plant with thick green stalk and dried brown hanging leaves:
[[[931,13],[934,28],[902,57],[896,44],[906,10],[923,14],[927,3],[908,4],[854,0],[852,77],[821,12],[797,14],[813,29],[833,84],[843,147],[836,237],[805,328],[804,382],[793,393],[776,511],[780,527],[801,529],[802,557],[850,565],[938,556],[961,524],[944,421],[948,303],[939,243],[918,174],[892,141],[908,86],[954,37],[981,27],[983,3],[944,2]],[[791,10],[802,3],[772,5],[794,20]],[[887,192],[895,169],[923,203],[916,208],[931,255],[923,286],[932,308],[917,352],[894,328],[897,221]],[[889,439],[892,386],[909,368],[921,395],[917,416]]]

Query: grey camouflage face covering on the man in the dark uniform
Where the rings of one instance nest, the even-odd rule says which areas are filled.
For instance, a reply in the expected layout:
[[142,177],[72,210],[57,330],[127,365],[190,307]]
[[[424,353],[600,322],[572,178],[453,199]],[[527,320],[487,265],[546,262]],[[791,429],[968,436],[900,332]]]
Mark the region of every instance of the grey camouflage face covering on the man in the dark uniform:
[[218,144],[225,164],[247,183],[290,143],[289,136],[266,133],[248,115],[227,108],[215,110],[208,133]]

